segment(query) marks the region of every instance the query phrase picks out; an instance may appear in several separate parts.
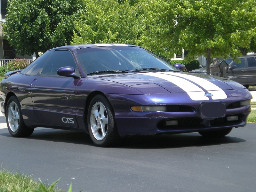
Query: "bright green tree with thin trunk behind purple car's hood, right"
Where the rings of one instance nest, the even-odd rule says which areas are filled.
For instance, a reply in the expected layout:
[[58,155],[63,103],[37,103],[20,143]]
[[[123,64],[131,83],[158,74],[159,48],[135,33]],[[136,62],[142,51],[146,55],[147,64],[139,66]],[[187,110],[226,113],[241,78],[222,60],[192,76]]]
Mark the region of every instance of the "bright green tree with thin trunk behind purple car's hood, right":
[[143,46],[165,48],[169,57],[182,48],[187,59],[206,55],[207,74],[211,57],[236,59],[256,34],[255,0],[151,0],[145,7]]

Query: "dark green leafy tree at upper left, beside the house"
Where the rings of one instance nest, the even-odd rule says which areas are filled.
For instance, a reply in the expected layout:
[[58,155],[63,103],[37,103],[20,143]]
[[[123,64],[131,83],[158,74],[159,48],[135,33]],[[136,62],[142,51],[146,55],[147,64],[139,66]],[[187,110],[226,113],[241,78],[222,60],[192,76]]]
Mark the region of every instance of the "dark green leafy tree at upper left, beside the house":
[[9,0],[4,34],[20,55],[69,44],[81,13],[79,0]]

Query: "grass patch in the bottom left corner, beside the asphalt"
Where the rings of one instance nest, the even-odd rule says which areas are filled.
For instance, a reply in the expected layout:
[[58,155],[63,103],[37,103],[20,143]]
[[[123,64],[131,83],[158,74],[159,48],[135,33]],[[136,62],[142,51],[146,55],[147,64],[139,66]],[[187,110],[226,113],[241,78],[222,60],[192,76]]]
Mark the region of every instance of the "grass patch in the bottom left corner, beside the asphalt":
[[[60,179],[59,179],[60,180]],[[1,192],[65,192],[64,190],[55,189],[55,185],[37,182],[33,177],[18,172],[12,173],[0,170],[0,191]],[[72,183],[67,192],[72,192]]]

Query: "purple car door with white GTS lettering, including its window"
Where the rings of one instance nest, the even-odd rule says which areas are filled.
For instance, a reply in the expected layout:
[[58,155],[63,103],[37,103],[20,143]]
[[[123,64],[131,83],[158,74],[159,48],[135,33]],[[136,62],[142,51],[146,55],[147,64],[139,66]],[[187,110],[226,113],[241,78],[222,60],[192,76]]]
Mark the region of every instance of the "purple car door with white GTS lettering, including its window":
[[78,127],[75,90],[79,79],[58,76],[61,67],[73,67],[76,62],[68,50],[56,50],[31,84],[34,113],[40,123]]

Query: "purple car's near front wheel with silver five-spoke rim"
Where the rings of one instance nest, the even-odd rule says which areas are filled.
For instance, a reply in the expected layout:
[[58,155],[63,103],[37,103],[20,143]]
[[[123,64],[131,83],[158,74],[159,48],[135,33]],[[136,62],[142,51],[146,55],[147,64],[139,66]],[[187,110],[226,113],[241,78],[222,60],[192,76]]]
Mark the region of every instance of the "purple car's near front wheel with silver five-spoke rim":
[[109,147],[120,138],[114,119],[114,110],[104,95],[93,97],[87,116],[88,131],[96,146]]

